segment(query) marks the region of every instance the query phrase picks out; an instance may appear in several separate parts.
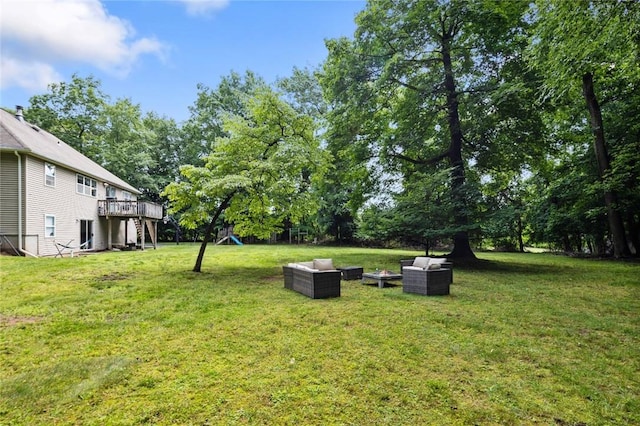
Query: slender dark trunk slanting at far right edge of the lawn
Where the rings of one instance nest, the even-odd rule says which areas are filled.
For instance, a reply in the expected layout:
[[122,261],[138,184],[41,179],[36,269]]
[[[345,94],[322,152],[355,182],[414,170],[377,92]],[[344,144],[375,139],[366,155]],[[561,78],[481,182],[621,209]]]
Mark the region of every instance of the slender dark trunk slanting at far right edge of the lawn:
[[[600,104],[593,90],[593,74],[587,73],[582,76],[582,93],[587,102],[589,109],[589,118],[591,120],[591,129],[593,131],[593,148],[598,162],[600,179],[604,180],[606,173],[609,171],[609,155],[604,139],[604,127],[602,126],[602,112]],[[629,246],[624,232],[624,223],[620,212],[617,210],[617,196],[615,192],[605,189],[604,201],[607,206],[607,219],[609,221],[609,231],[613,239],[613,255],[614,257],[629,256]]]

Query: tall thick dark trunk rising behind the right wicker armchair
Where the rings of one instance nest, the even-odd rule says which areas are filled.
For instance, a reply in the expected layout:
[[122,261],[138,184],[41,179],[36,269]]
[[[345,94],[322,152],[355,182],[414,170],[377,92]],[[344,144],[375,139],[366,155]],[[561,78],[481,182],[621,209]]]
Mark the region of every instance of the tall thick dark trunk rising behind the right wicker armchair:
[[453,250],[448,256],[454,258],[475,258],[469,243],[469,234],[466,227],[469,224],[467,215],[464,186],[464,162],[462,161],[462,127],[460,126],[460,114],[458,112],[458,92],[453,76],[453,66],[451,63],[451,42],[452,36],[444,34],[442,38],[442,64],[444,66],[444,88],[447,94],[447,120],[449,122],[449,134],[451,143],[449,145],[449,163],[451,171],[451,193],[453,197],[454,221],[457,227],[462,230],[456,232],[453,237]]

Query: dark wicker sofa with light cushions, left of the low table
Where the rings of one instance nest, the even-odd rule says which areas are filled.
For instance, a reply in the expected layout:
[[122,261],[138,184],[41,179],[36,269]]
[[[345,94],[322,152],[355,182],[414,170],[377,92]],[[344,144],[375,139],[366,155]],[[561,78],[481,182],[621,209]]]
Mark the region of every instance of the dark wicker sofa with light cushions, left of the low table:
[[284,288],[297,291],[312,299],[340,297],[341,272],[331,259],[289,263],[282,267]]

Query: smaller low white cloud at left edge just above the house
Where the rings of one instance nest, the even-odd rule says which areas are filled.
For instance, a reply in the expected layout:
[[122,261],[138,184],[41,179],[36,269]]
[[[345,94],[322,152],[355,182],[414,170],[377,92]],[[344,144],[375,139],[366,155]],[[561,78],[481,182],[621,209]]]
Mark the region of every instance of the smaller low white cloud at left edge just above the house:
[[14,58],[0,57],[0,89],[18,86],[32,92],[46,89],[51,83],[63,80],[49,64],[24,62]]

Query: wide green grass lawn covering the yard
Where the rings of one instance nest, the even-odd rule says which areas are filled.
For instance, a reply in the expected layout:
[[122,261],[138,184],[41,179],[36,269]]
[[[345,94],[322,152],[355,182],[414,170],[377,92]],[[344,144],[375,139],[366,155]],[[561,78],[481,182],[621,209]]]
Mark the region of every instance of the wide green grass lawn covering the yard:
[[640,265],[479,253],[450,296],[281,266],[415,251],[197,245],[0,258],[0,424],[640,424]]

